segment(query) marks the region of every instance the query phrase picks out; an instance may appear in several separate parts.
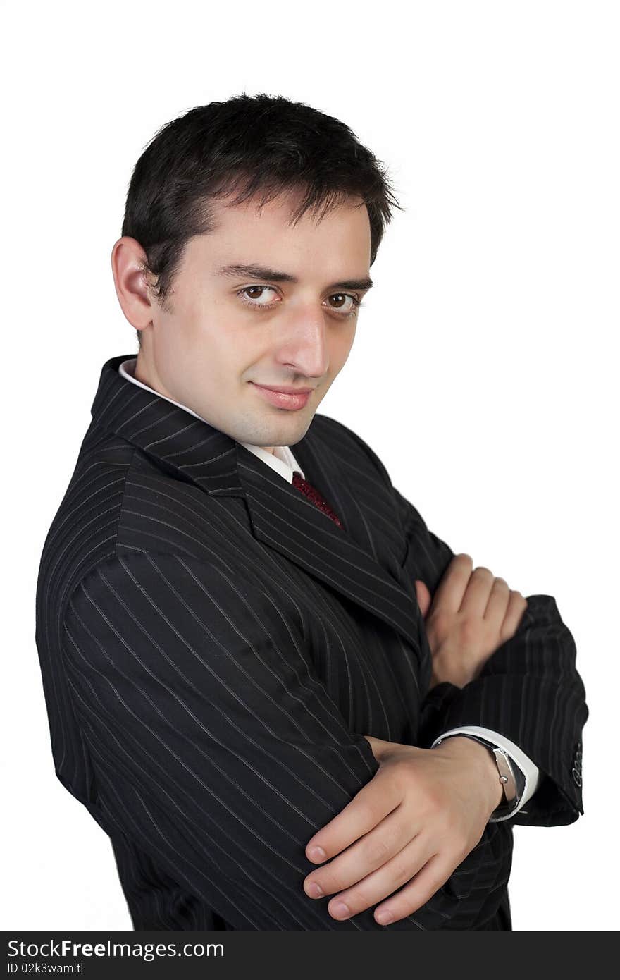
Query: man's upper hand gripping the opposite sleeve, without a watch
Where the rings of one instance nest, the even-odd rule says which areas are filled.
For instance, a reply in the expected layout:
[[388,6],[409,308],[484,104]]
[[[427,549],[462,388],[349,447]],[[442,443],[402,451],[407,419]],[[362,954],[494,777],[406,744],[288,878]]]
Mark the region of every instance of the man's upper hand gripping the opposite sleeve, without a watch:
[[514,636],[527,608],[527,599],[508,589],[503,578],[489,568],[472,571],[472,564],[469,555],[455,555],[432,602],[424,582],[415,579],[433,655],[429,690],[443,681],[464,687],[476,678],[498,647]]

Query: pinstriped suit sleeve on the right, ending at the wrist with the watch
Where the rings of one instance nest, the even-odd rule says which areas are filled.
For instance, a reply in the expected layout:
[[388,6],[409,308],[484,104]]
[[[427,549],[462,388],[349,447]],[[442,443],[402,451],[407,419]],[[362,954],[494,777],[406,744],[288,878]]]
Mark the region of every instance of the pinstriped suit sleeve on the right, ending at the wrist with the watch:
[[[405,536],[402,567],[421,579],[431,595],[453,560],[450,546],[426,526],[416,508],[394,487],[379,457],[352,436],[390,488]],[[582,731],[588,718],[586,692],[576,667],[574,638],[553,596],[526,596],[527,609],[515,635],[485,664],[476,680],[458,688],[437,684],[422,703],[418,744],[453,728],[490,728],[512,741],[539,769],[536,793],[510,823],[556,826],[584,812]]]

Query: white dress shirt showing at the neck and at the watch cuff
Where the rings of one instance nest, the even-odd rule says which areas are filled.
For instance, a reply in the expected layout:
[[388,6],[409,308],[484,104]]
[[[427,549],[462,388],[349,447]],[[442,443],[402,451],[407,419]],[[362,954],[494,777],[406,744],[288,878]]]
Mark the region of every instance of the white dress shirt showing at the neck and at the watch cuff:
[[[178,406],[179,409],[189,412],[189,414],[195,418],[202,418],[203,421],[208,421],[207,418],[197,415],[196,412],[193,412],[186,405],[181,405],[180,402],[175,402],[172,398],[167,398],[166,395],[162,395],[159,391],[151,388],[150,385],[144,384],[144,382],[139,381],[137,377],[134,377],[133,372],[136,361],[137,358],[129,358],[127,361],[123,361],[122,364],[119,365],[119,374],[126,378],[127,381],[132,381],[134,384],[138,384],[141,388],[145,388],[146,391],[151,391],[154,395],[159,395],[160,398],[165,398],[167,402],[171,402],[172,405]],[[241,445],[245,446],[245,448],[251,453],[254,453],[255,456],[258,456],[258,458],[262,460],[263,463],[266,463],[267,466],[271,466],[272,469],[275,469],[275,471],[283,476],[285,480],[288,480],[289,483],[293,482],[293,473],[295,470],[301,473],[304,479],[306,479],[306,475],[302,467],[293,456],[289,446],[274,446],[273,452],[268,453],[262,446],[254,446],[248,442],[242,442]],[[449,731],[444,732],[443,735],[440,735],[435,739],[431,749],[435,747],[440,739],[448,738],[449,735],[468,734],[479,735],[480,738],[484,738],[488,742],[492,742],[497,748],[503,749],[513,765],[517,765],[523,773],[525,786],[519,802],[513,809],[511,809],[508,813],[505,813],[503,816],[491,817],[490,822],[495,823],[500,820],[507,820],[509,817],[514,816],[518,810],[523,808],[536,790],[540,778],[538,766],[535,765],[535,763],[529,759],[529,757],[526,756],[525,753],[514,744],[514,742],[507,739],[505,735],[501,735],[499,732],[495,732],[491,728],[480,728],[476,725],[463,725],[459,728],[449,729]]]

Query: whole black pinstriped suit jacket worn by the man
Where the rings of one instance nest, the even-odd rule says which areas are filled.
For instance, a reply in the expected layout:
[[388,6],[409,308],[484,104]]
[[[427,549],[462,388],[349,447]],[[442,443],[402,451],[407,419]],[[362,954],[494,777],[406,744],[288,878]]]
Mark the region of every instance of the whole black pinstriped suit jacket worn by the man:
[[[432,593],[453,552],[372,450],[319,414],[294,446],[340,529],[122,378],[130,356],[102,368],[45,540],[36,644],[56,773],[109,834],[134,928],[510,928],[511,823],[583,812],[588,708],[554,599],[528,597],[478,680],[427,694],[413,580]],[[459,724],[517,743],[539,789],[415,913],[333,919],[305,848],[376,772],[363,735],[428,747]]]

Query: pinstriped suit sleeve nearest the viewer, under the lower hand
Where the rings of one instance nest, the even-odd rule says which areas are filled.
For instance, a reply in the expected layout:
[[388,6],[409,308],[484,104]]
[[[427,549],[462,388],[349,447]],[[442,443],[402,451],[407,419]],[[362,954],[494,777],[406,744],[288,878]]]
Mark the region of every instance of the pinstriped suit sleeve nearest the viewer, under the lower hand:
[[259,585],[186,556],[119,556],[78,583],[64,649],[95,818],[236,929],[417,931],[493,914],[510,857],[498,825],[459,865],[456,890],[449,881],[390,926],[372,907],[338,921],[330,897],[306,895],[310,837],[379,763],[289,619]]

